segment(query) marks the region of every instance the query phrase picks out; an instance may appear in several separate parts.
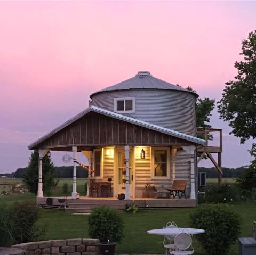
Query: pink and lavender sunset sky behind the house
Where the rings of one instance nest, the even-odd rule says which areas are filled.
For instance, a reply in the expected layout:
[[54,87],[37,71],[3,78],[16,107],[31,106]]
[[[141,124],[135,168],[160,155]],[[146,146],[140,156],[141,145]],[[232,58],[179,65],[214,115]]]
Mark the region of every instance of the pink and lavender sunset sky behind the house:
[[[29,143],[138,70],[219,100],[255,12],[256,2],[0,2],[0,172],[25,167]],[[223,166],[249,163],[252,141],[239,145],[216,112],[212,125],[224,130]]]

